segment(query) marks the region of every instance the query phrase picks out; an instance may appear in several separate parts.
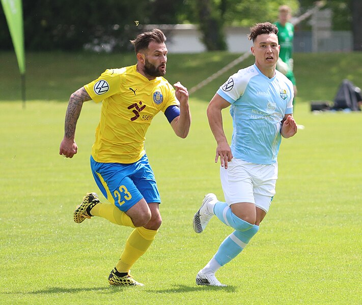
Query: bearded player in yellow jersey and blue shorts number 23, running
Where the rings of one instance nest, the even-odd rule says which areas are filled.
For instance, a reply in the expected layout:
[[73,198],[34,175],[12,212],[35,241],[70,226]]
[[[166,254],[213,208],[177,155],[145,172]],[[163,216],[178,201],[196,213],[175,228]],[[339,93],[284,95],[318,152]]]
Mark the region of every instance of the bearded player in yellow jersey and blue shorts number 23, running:
[[142,33],[131,41],[137,64],[106,70],[98,79],[74,92],[68,104],[60,155],[77,153],[75,126],[82,104],[102,102],[101,118],[92,146],[94,179],[110,203],[89,193],[74,211],[81,223],[93,216],[134,228],[124,251],[110,272],[110,285],[141,285],[129,274],[131,266],[149,248],[161,225],[160,196],[149,165],[144,142],[153,117],[162,111],[176,135],[185,138],[191,116],[187,89],[163,78],[168,50],[159,29]]

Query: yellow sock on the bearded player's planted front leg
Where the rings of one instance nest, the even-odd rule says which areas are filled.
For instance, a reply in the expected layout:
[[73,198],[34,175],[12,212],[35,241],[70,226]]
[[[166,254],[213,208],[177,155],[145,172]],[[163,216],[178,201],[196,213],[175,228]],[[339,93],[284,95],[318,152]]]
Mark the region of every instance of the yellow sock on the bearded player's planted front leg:
[[135,228],[129,235],[124,251],[116,265],[118,272],[128,272],[138,258],[145,254],[150,247],[158,230],[149,230],[144,227]]

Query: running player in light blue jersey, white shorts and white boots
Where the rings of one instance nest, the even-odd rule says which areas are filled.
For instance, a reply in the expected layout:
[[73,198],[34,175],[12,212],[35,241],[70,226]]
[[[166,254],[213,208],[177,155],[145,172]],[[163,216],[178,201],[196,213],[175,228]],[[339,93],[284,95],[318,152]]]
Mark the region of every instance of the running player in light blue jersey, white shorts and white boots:
[[[235,231],[222,241],[214,257],[202,268],[196,284],[226,286],[215,272],[234,259],[258,232],[275,194],[276,157],[281,138],[297,132],[293,119],[293,84],[275,70],[280,45],[275,25],[265,22],[250,28],[255,64],[239,70],[220,86],[207,108],[220,157],[220,179],[226,202],[207,194],[193,219],[197,233],[215,215]],[[233,118],[231,145],[222,127],[221,110],[230,106]]]

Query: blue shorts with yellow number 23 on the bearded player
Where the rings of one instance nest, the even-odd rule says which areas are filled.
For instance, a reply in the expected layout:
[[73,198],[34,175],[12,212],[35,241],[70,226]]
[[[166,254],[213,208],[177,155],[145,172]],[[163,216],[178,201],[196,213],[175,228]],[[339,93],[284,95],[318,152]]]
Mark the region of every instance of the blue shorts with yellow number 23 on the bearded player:
[[145,198],[147,203],[161,203],[155,176],[147,156],[130,164],[99,163],[91,156],[91,169],[98,188],[121,211]]

